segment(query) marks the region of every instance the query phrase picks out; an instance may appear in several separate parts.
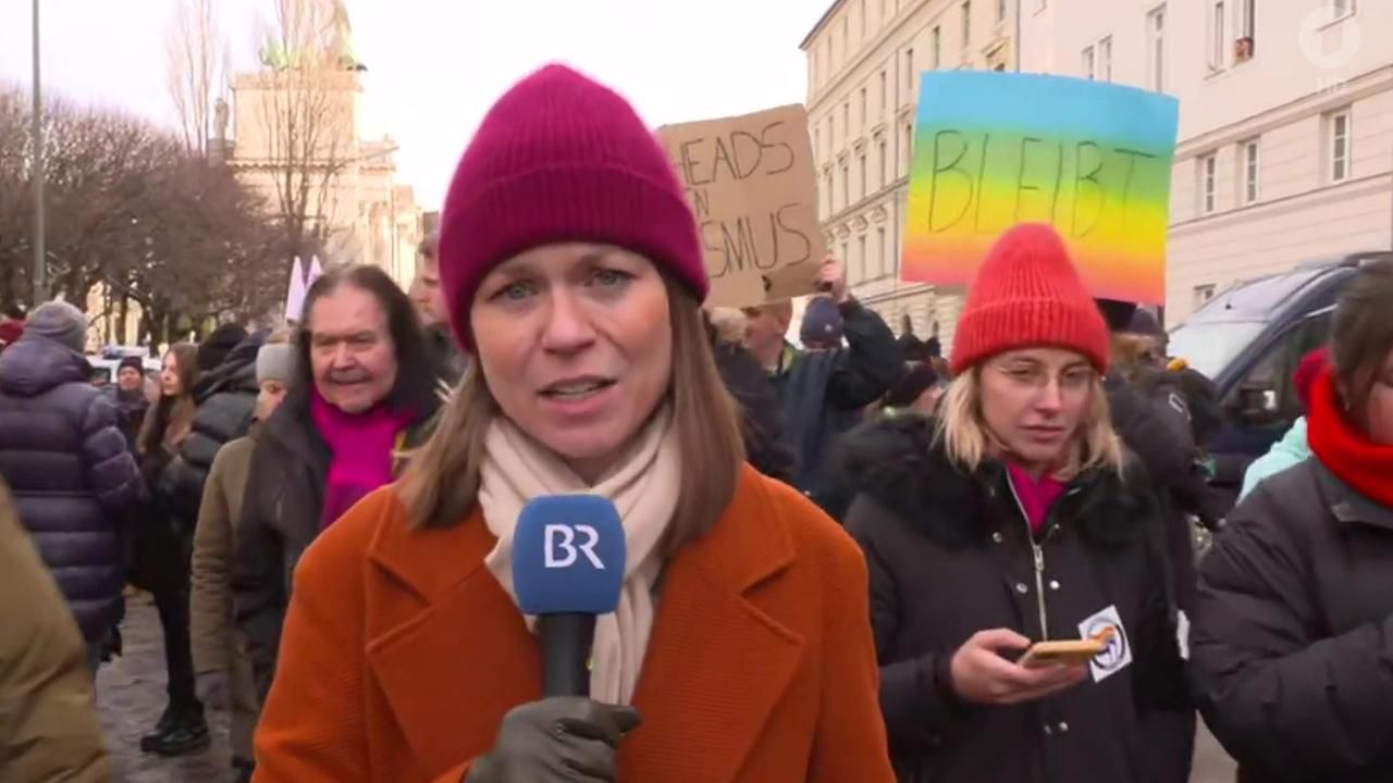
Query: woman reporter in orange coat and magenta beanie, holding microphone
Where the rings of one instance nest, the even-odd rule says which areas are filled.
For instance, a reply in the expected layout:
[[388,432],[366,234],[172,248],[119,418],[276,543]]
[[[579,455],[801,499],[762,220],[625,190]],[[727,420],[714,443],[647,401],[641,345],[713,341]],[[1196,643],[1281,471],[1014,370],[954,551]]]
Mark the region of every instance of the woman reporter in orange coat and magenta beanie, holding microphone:
[[[454,176],[440,277],[475,357],[400,485],[295,574],[259,783],[889,783],[866,568],[744,464],[701,241],[623,98],[552,65]],[[612,499],[627,560],[591,698],[543,698],[520,509]]]

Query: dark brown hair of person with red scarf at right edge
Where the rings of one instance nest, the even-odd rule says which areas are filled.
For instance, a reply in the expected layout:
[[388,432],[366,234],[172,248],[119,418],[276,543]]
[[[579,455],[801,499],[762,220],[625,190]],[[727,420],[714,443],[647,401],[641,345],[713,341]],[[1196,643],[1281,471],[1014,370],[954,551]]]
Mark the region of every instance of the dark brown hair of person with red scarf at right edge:
[[1340,396],[1357,417],[1378,383],[1379,371],[1393,348],[1393,262],[1365,266],[1340,295],[1330,330],[1330,364],[1340,382]]

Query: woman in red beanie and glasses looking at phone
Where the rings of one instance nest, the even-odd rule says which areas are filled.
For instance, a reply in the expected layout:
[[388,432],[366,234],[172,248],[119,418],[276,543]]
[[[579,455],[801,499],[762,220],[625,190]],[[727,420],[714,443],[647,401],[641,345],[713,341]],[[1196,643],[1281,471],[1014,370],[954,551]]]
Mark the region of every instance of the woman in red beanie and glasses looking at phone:
[[[880,709],[900,780],[1183,783],[1190,709],[1162,520],[1124,465],[1100,376],[1109,334],[1049,226],[992,248],[937,418],[846,443],[871,568]],[[1106,635],[1089,663],[1032,642]]]

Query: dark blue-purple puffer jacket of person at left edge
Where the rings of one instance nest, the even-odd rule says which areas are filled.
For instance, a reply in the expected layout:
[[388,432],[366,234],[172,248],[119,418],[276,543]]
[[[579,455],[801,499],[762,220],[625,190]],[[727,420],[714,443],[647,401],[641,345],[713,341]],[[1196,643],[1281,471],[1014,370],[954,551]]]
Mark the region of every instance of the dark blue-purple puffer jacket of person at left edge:
[[142,488],[89,375],[82,354],[38,334],[0,355],[0,476],[91,642],[121,620],[118,518]]

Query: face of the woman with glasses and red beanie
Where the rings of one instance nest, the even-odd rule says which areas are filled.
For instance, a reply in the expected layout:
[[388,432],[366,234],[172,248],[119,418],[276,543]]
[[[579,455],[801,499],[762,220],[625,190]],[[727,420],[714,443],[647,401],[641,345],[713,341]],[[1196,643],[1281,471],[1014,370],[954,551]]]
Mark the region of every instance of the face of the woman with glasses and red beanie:
[[982,418],[1025,468],[1052,470],[1068,449],[1092,401],[1096,373],[1081,354],[1025,348],[982,366]]

